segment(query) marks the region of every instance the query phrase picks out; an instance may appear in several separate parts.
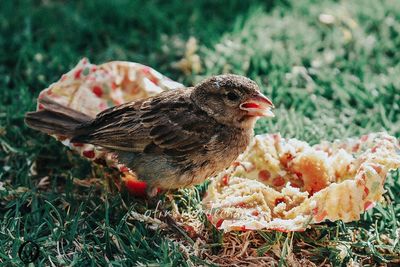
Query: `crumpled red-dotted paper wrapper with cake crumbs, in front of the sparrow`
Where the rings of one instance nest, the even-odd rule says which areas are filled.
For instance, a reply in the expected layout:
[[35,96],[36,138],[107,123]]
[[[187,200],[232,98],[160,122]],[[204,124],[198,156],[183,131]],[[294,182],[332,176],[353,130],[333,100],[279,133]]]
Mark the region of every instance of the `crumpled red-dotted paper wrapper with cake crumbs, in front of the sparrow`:
[[203,199],[219,229],[303,231],[325,220],[350,222],[382,200],[400,146],[387,133],[310,146],[258,135]]

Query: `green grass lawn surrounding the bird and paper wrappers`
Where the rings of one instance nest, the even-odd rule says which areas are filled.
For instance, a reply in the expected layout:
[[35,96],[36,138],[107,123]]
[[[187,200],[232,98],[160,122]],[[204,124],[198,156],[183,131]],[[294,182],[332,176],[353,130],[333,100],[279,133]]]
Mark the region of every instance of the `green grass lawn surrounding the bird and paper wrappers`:
[[[220,2],[0,1],[0,264],[21,266],[28,239],[41,248],[37,266],[210,263],[129,216],[147,203],[77,185],[101,174],[24,126],[39,91],[83,56],[141,62],[185,84],[222,72],[249,76],[278,107],[258,133],[311,143],[379,130],[400,137],[399,1]],[[202,70],[184,74],[173,62],[190,37]],[[257,249],[280,265],[399,264],[399,172],[386,189],[385,203],[359,222],[261,232]],[[178,192],[178,205],[198,207],[203,190]],[[211,236],[218,253],[220,234]]]

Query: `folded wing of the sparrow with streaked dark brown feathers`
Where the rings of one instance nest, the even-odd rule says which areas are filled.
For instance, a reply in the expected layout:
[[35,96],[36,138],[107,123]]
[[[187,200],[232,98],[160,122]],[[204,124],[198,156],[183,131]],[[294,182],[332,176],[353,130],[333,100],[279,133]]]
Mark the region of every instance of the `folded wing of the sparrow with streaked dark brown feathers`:
[[165,93],[101,112],[73,141],[119,151],[182,154],[204,148],[215,130],[210,123],[190,98]]

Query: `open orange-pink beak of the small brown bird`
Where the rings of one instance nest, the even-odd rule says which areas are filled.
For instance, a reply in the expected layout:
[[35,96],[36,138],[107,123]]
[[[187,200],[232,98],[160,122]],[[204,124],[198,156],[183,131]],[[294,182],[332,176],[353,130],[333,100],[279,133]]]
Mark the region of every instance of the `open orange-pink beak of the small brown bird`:
[[256,117],[275,117],[271,111],[272,108],[274,108],[272,101],[261,93],[240,104],[241,110],[245,110],[250,116]]

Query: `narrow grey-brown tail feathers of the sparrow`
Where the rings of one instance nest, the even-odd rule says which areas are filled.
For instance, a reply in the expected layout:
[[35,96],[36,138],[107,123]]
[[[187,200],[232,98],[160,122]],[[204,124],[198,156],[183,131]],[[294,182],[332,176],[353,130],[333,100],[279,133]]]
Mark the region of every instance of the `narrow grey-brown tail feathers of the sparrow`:
[[93,118],[69,107],[58,104],[48,97],[39,99],[43,109],[25,114],[25,123],[41,132],[73,137],[77,127]]

